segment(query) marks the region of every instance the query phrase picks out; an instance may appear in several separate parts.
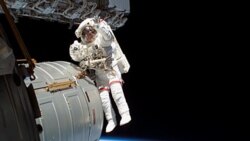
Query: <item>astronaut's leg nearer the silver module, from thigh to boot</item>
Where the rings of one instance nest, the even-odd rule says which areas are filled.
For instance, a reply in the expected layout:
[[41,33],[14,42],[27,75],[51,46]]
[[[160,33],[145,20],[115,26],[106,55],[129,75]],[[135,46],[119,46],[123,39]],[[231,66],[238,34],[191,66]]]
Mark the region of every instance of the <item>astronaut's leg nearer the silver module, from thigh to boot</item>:
[[116,115],[110,101],[109,87],[106,86],[106,84],[108,84],[108,80],[106,78],[106,75],[104,75],[100,71],[96,71],[96,84],[97,87],[99,87],[102,108],[105,114],[105,118],[108,121],[105,131],[106,133],[108,133],[116,127],[117,122]]

